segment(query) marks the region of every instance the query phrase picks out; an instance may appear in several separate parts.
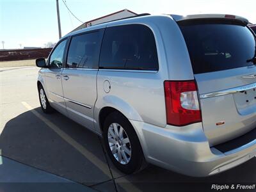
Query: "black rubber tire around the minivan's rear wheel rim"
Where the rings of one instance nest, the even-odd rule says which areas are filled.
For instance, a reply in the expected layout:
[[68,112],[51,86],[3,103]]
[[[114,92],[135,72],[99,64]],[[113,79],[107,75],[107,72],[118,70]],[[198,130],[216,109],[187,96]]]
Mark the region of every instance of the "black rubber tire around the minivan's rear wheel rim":
[[[109,147],[109,141],[108,141],[108,129],[109,126],[113,123],[119,124],[122,126],[122,128],[125,131],[125,134],[127,134],[127,137],[129,138],[129,143],[131,145],[131,156],[129,156],[131,159],[127,164],[120,163],[112,154],[111,148]],[[119,127],[120,128],[120,127]],[[104,145],[106,147],[107,153],[113,164],[115,164],[116,168],[120,170],[121,172],[124,172],[126,174],[136,172],[138,170],[141,170],[143,167],[143,164],[145,164],[145,158],[143,155],[143,150],[140,145],[140,141],[138,139],[138,136],[136,132],[134,131],[131,123],[127,118],[125,118],[124,115],[121,113],[118,113],[118,111],[110,113],[106,120],[104,121],[104,127],[103,127],[103,139],[104,139]],[[116,150],[117,151],[117,150]],[[123,156],[122,156],[123,157]]]

